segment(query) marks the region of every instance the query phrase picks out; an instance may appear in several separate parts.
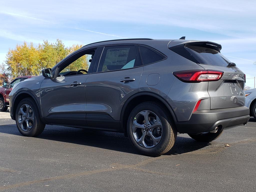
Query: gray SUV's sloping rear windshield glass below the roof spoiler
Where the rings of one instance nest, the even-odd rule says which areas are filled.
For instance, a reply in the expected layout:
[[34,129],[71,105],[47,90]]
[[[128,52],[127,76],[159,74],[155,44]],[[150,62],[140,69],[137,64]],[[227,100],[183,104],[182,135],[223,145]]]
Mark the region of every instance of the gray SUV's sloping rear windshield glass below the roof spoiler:
[[220,52],[194,45],[185,45],[185,49],[201,64],[226,67],[230,61]]

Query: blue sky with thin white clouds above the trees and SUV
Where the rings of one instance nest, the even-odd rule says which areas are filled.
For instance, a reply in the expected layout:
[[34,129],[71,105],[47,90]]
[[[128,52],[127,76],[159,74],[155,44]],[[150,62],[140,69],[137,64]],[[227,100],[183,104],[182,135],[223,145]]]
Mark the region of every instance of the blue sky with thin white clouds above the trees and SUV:
[[[65,46],[122,38],[207,40],[254,87],[256,1],[0,0],[0,62],[16,44],[61,39]],[[252,78],[252,79],[249,79]]]

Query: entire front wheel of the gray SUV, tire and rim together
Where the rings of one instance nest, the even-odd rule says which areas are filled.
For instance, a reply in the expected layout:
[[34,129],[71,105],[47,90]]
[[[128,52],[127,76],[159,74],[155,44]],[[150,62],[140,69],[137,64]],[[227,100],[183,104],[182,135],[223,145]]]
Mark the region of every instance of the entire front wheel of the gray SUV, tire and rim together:
[[45,129],[45,124],[40,119],[37,105],[33,99],[25,98],[17,106],[16,125],[24,136],[37,136]]

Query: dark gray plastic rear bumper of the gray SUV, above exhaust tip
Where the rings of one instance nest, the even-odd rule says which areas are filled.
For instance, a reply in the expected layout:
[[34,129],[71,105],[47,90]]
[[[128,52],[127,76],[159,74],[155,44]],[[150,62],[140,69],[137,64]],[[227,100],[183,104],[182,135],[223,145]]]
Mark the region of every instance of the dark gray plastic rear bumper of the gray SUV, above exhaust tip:
[[179,133],[202,133],[230,129],[245,125],[250,119],[250,110],[246,106],[225,109],[198,110],[193,113],[189,121],[176,122]]

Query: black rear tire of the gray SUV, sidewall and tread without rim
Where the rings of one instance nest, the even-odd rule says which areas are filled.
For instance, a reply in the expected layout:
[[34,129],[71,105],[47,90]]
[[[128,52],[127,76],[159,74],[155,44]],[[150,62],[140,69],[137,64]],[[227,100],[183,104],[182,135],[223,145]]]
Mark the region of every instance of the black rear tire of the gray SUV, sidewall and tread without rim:
[[[142,111],[151,111],[155,113],[162,124],[161,140],[152,148],[145,148],[141,146],[136,142],[133,136],[133,132],[132,132],[133,121],[134,119],[136,119],[135,116]],[[170,115],[170,112],[167,109],[165,109],[161,104],[155,103],[155,102],[143,102],[137,105],[131,111],[131,114],[127,121],[127,134],[132,145],[142,154],[147,156],[159,156],[167,153],[173,147],[177,137],[176,127],[173,122],[172,116]]]

